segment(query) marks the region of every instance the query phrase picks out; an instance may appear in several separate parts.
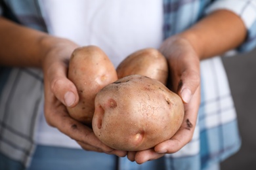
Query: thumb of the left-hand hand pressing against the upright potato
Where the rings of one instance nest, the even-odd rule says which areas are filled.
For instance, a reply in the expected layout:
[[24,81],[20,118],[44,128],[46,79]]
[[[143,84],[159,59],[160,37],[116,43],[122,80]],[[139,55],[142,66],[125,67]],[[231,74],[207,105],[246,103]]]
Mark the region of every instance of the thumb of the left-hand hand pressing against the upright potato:
[[[56,69],[58,68],[58,69]],[[67,107],[74,107],[79,101],[75,84],[67,78],[68,68],[64,62],[56,62],[47,71],[51,91]]]

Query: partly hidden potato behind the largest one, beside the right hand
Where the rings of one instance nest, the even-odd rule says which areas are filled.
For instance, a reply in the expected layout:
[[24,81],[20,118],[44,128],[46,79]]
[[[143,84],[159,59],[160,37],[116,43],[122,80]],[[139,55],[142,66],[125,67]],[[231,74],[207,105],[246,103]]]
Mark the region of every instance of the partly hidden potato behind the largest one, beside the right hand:
[[144,75],[167,82],[168,65],[165,57],[154,48],[145,48],[125,58],[117,67],[118,78],[129,75]]

